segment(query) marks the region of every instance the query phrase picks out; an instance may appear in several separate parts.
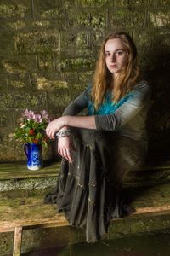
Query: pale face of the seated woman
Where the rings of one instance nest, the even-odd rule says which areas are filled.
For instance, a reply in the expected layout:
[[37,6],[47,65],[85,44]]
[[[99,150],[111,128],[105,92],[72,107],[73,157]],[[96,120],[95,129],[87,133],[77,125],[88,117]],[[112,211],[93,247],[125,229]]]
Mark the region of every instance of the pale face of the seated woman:
[[128,53],[120,38],[109,39],[105,43],[105,64],[116,77],[127,67]]

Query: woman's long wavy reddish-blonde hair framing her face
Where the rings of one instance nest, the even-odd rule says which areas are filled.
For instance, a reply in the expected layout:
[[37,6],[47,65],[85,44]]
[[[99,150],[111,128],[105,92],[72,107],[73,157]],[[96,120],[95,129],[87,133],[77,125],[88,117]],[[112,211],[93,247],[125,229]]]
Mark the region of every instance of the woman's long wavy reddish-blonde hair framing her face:
[[[114,38],[122,40],[122,44],[128,53],[127,67],[123,68],[117,79],[114,79],[113,74],[107,69],[105,64],[105,44],[109,39]],[[112,90],[113,102],[119,102],[130,90],[133,90],[138,76],[138,53],[133,38],[126,32],[112,32],[104,39],[99,51],[99,59],[96,63],[91,95],[94,108],[98,109],[102,102],[104,102],[107,90]]]

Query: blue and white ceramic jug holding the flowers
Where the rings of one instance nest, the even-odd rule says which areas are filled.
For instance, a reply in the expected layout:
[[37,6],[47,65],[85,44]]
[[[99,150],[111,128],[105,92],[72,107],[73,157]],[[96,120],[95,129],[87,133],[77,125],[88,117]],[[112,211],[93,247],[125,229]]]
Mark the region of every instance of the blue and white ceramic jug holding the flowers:
[[29,170],[39,170],[42,168],[42,145],[27,143],[24,145],[24,151],[27,156],[27,168]]

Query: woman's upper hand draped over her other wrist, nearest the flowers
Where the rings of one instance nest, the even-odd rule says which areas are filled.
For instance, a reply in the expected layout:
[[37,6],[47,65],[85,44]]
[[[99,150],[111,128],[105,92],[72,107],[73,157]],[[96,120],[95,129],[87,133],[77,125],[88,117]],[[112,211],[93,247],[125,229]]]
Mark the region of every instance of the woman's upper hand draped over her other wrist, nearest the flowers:
[[66,117],[62,116],[59,119],[54,119],[46,128],[46,134],[50,139],[55,138],[56,132],[66,125]]

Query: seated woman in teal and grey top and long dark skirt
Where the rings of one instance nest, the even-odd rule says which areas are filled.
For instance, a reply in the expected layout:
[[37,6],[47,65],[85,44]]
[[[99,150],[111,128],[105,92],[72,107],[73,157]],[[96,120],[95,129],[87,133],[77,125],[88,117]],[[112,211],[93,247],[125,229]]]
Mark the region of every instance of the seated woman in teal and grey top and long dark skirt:
[[[70,224],[86,228],[88,242],[107,232],[111,218],[125,214],[123,177],[147,151],[145,120],[149,86],[138,82],[137,50],[126,32],[108,35],[100,49],[93,84],[47,127],[63,156],[57,203]],[[88,108],[87,116],[77,116]]]

